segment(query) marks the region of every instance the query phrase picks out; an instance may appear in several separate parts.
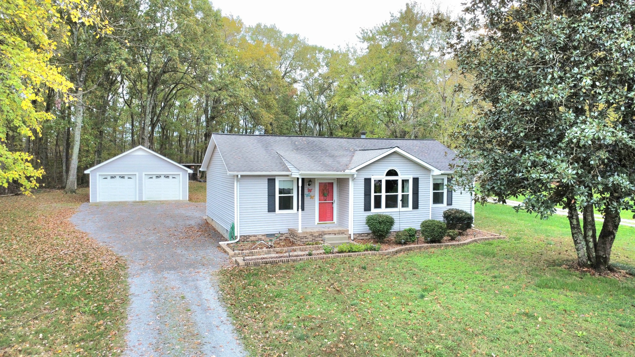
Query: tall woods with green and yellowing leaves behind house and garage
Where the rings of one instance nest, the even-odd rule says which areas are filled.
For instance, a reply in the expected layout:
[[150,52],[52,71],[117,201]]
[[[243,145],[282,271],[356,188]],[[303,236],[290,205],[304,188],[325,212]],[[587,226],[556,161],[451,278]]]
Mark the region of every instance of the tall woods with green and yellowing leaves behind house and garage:
[[450,32],[436,25],[443,15],[415,3],[363,30],[361,49],[340,50],[275,26],[246,26],[205,0],[97,5],[109,33],[61,10],[64,25],[50,33],[53,41],[67,38],[50,64],[72,83],[70,100],[38,86],[34,108],[50,114],[39,120],[41,131],[6,125],[3,144],[32,155],[46,187],[74,191],[76,180],[87,184],[83,170],[136,145],[200,162],[217,131],[354,137],[366,130],[453,145],[451,132],[471,112],[445,53]]

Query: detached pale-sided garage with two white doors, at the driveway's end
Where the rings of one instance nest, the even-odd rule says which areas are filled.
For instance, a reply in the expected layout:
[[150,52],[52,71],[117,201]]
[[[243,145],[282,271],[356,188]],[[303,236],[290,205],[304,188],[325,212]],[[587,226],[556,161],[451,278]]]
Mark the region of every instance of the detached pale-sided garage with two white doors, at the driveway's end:
[[143,146],[93,166],[90,201],[150,201],[189,199],[188,173],[192,170]]

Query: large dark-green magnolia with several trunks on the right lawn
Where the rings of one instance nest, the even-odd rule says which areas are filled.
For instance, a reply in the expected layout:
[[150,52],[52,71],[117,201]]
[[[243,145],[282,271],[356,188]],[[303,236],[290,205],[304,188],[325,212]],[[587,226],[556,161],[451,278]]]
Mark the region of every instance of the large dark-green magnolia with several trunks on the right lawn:
[[597,271],[635,210],[634,19],[626,0],[472,0],[455,24],[477,112],[455,182],[476,177],[481,202],[525,196],[542,218],[563,206],[578,265]]

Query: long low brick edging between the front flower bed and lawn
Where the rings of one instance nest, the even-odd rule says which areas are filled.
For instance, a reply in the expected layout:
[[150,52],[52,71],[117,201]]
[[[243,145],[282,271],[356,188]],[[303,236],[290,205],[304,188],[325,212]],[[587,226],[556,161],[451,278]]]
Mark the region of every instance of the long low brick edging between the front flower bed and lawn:
[[[356,252],[356,253],[321,254],[321,255],[311,255],[311,256],[305,255],[302,257],[272,258],[272,259],[248,260],[248,261],[245,261],[243,257],[237,257],[237,258],[234,258],[234,262],[236,262],[237,266],[257,267],[257,266],[266,266],[271,264],[302,262],[303,260],[362,257],[364,255],[387,255],[388,256],[388,255],[395,255],[395,254],[403,253],[403,252],[409,252],[411,250],[424,250],[429,248],[445,248],[448,246],[462,246],[462,245],[468,245],[471,243],[477,243],[480,241],[491,241],[494,239],[506,239],[506,238],[507,236],[485,236],[485,237],[465,239],[464,241],[460,241],[460,242],[398,246],[396,248],[392,248],[389,250],[380,250],[379,252],[369,251],[369,252]],[[305,247],[300,247],[300,248],[305,248]],[[315,248],[315,246],[308,246],[307,248]],[[290,248],[278,248],[278,249],[284,249],[288,251],[288,249]],[[306,250],[309,250],[309,249],[306,249]]]

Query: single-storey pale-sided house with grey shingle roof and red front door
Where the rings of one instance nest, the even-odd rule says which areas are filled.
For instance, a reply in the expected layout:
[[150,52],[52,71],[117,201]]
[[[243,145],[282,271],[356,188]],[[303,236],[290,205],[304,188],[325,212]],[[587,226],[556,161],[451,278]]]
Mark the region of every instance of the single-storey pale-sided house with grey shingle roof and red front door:
[[418,229],[459,208],[474,214],[471,192],[446,188],[455,153],[436,140],[213,134],[207,220],[236,239],[324,235],[366,238],[366,216],[385,213],[394,231]]

